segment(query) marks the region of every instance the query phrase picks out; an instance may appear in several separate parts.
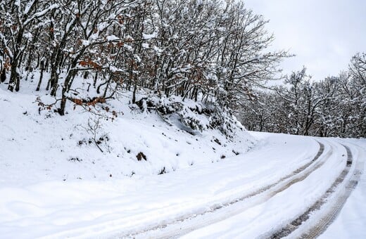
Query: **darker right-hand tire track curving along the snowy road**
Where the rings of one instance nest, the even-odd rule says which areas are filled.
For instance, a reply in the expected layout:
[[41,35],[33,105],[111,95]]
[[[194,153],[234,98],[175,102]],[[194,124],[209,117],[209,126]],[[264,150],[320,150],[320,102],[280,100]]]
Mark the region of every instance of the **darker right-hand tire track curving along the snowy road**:
[[[357,186],[358,181],[360,181],[360,175],[362,174],[363,169],[363,163],[357,162],[353,170],[353,175],[347,179],[348,174],[351,172],[351,167],[355,162],[353,160],[353,155],[350,148],[344,145],[343,147],[346,148],[347,151],[346,167],[336,178],[332,186],[328,188],[328,190],[322,195],[322,198],[317,200],[306,212],[294,219],[294,221],[291,221],[291,223],[270,235],[269,238],[284,238],[286,236],[289,236],[290,238],[317,238],[317,236],[322,234],[328,228],[328,226],[332,224],[339,212],[341,212],[341,209],[346,203],[347,198]],[[341,183],[343,183],[343,186],[339,188]],[[333,199],[332,202],[329,202],[329,197],[333,193],[336,193],[336,190],[340,191],[339,195],[336,195],[336,198]],[[305,222],[310,222],[308,221],[310,216],[319,211],[326,203],[331,203],[331,205],[325,212],[322,212],[323,215],[320,217],[320,219],[318,219],[316,224],[310,226],[310,228],[307,228],[305,232],[301,233],[299,236],[291,235],[291,233],[297,229],[301,230],[301,226]]]

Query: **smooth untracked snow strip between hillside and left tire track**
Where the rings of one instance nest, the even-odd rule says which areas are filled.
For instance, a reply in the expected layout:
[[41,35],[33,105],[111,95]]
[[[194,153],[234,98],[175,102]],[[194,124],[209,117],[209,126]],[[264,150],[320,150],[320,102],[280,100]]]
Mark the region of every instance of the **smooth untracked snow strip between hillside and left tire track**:
[[277,181],[318,148],[313,140],[274,137],[245,155],[160,176],[3,185],[0,235],[103,237],[197,213]]

